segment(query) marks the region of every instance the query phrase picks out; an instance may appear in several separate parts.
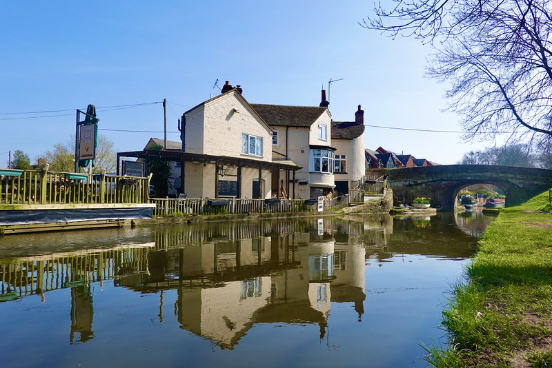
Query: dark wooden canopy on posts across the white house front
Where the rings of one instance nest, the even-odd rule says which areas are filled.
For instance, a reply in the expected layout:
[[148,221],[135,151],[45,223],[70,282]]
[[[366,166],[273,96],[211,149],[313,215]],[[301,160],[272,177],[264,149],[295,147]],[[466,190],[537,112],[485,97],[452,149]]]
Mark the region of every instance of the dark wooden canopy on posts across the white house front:
[[[119,175],[119,161],[120,157],[135,157],[137,159],[146,159],[146,162],[150,158],[161,159],[164,161],[172,161],[179,163],[193,162],[193,163],[211,163],[217,167],[222,165],[233,165],[237,167],[238,176],[237,181],[241,181],[241,169],[242,167],[252,167],[259,170],[259,187],[261,183],[262,170],[270,170],[277,172],[277,180],[279,181],[279,171],[284,170],[286,172],[293,172],[293,178],[288,181],[293,183],[292,198],[295,197],[295,172],[301,170],[303,167],[295,165],[292,161],[259,161],[255,159],[244,159],[241,157],[230,156],[217,156],[210,154],[196,154],[190,152],[182,152],[177,150],[142,150],[142,151],[129,151],[129,152],[117,152],[117,175]],[[181,167],[181,179],[184,179],[184,165]],[[215,187],[218,187],[219,170],[215,170]],[[184,180],[181,181],[181,185],[184,185]],[[240,185],[238,185],[239,188]],[[237,197],[240,198],[238,189]],[[289,192],[289,191],[288,191]],[[218,193],[215,192],[215,197]]]

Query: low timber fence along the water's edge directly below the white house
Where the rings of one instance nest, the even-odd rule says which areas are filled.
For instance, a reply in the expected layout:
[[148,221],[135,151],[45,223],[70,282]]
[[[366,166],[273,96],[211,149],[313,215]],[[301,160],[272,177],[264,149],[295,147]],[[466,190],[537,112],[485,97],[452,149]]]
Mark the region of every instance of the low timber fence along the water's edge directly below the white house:
[[[239,198],[151,198],[153,217],[193,214],[267,214],[271,212],[317,212],[317,200]],[[348,194],[323,200],[324,211],[348,206]]]

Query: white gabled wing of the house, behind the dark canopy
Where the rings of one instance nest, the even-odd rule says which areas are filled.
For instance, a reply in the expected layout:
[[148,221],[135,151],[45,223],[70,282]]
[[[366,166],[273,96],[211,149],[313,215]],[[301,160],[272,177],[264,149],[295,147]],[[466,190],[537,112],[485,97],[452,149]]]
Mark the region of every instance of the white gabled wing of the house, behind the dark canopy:
[[181,126],[184,152],[219,158],[185,163],[187,198],[272,197],[272,130],[237,88],[186,111]]

